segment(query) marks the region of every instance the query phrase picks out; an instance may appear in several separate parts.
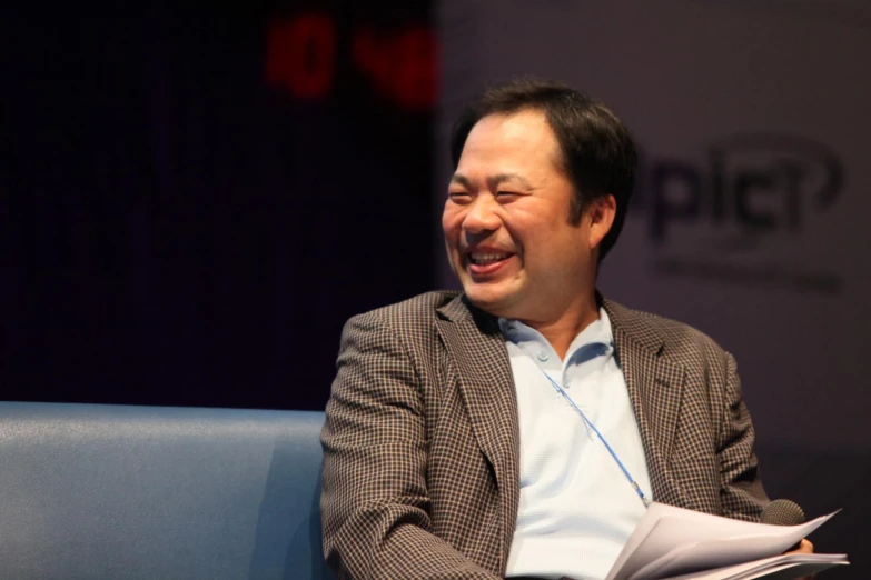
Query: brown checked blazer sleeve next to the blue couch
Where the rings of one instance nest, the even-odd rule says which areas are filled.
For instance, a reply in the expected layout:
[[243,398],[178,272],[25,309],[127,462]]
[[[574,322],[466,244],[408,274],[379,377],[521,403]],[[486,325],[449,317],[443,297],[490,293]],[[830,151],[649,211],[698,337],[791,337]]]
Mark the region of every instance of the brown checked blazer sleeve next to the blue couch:
[[432,533],[420,378],[378,312],[350,319],[321,432],[324,557],[339,578],[495,579]]

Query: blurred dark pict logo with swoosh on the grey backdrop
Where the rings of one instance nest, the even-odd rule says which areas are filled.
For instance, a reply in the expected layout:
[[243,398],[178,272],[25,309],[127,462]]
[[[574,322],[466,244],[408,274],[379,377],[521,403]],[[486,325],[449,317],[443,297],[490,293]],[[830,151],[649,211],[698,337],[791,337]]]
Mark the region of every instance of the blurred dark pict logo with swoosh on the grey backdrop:
[[831,149],[784,134],[714,142],[705,164],[642,163],[630,216],[643,217],[656,271],[749,286],[841,289],[840,276],[794,268],[776,249],[840,199],[844,171]]

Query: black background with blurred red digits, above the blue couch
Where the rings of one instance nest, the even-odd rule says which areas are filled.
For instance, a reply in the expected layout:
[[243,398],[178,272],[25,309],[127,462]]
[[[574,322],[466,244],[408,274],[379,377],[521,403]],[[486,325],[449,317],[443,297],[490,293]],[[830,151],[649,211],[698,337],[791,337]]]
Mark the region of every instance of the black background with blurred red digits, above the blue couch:
[[428,2],[0,16],[4,399],[323,409],[433,287]]

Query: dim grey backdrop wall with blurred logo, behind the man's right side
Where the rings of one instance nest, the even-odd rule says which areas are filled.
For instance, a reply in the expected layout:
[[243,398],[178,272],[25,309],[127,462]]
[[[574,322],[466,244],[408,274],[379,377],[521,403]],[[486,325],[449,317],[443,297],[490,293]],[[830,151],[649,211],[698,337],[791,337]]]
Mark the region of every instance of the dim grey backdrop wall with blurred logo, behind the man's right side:
[[811,516],[843,507],[812,539],[851,552],[827,576],[865,578],[871,7],[655,6],[442,2],[434,209],[451,123],[485,83],[534,73],[612,106],[643,162],[601,289],[735,354],[770,494]]

